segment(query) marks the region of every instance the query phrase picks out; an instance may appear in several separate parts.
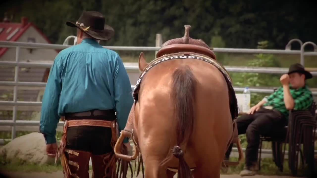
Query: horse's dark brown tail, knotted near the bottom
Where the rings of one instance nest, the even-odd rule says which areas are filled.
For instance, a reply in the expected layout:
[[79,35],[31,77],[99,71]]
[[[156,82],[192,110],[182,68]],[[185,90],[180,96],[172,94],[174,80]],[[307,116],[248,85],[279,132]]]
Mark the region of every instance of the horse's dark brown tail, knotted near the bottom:
[[[177,145],[172,153],[179,159],[178,175],[180,178],[192,177],[191,169],[184,160],[181,144],[188,142],[194,126],[194,106],[196,95],[196,78],[189,66],[181,66],[173,73],[172,98],[174,99],[174,113],[177,118]],[[184,144],[186,145],[186,144]],[[166,163],[171,157],[162,162]],[[162,165],[161,164],[161,165]]]

